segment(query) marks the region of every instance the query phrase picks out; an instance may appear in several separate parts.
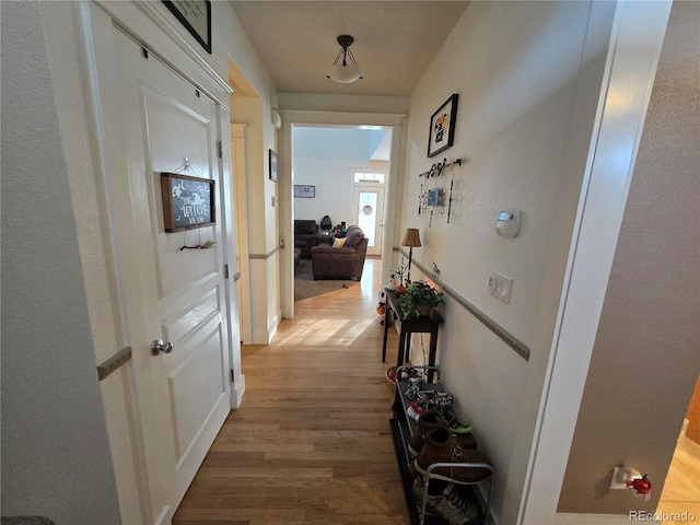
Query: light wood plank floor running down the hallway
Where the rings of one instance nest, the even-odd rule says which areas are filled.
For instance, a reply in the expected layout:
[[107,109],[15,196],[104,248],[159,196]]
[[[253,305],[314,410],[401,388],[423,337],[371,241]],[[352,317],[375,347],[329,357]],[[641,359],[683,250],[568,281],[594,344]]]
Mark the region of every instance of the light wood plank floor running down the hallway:
[[406,524],[389,431],[396,360],[375,312],[378,259],[360,287],[295,303],[269,346],[242,350],[246,392],[175,514],[175,525]]

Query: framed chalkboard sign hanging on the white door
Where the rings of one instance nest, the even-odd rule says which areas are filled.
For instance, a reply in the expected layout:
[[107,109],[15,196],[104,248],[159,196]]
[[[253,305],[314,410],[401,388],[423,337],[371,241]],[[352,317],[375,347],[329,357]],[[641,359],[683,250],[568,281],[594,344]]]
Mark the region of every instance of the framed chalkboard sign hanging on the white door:
[[168,233],[217,223],[214,180],[161,173],[163,219]]

